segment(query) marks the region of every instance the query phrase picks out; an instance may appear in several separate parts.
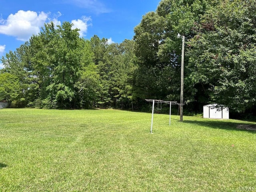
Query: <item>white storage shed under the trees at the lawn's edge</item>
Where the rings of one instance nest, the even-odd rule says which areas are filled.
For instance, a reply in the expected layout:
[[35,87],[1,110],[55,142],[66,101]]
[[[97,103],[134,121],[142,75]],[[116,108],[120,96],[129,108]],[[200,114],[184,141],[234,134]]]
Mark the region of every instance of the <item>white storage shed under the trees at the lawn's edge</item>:
[[229,119],[227,107],[217,108],[217,104],[204,105],[204,118]]

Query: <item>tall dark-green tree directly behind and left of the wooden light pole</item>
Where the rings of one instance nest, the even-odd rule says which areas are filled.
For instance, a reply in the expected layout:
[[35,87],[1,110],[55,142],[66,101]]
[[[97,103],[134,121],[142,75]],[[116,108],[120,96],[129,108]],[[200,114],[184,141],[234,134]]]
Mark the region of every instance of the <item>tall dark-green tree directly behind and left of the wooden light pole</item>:
[[[179,100],[181,40],[177,34],[188,37],[186,40],[192,38],[207,7],[205,0],[162,0],[156,12],[143,16],[134,29],[139,59],[135,88],[140,98]],[[185,100],[193,100],[194,90],[187,86],[187,80],[184,87]]]

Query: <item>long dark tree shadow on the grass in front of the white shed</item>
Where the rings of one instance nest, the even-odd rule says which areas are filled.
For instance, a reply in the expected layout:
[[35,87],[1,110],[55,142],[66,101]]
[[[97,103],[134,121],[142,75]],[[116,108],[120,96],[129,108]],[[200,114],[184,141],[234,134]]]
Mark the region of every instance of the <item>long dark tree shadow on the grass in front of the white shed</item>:
[[205,126],[214,129],[246,131],[256,134],[256,125],[252,123],[236,123],[226,120],[183,120],[184,123]]

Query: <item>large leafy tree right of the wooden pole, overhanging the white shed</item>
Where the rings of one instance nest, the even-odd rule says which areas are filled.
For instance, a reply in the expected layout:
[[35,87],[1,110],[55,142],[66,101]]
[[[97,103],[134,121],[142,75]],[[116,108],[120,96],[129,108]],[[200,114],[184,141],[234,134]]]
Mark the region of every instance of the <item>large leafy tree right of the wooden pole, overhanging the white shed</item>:
[[255,1],[224,0],[208,10],[190,40],[189,78],[210,101],[244,112],[256,104]]

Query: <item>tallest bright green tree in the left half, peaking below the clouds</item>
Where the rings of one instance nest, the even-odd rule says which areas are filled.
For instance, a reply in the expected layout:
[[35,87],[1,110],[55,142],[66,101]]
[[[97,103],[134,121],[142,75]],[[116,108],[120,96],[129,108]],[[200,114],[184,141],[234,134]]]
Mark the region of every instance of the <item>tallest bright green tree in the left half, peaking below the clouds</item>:
[[38,36],[31,38],[34,48],[32,62],[38,70],[40,97],[56,102],[60,108],[74,105],[74,83],[81,68],[82,43],[78,30],[72,30],[72,24],[64,22],[54,28],[54,24],[45,24]]

